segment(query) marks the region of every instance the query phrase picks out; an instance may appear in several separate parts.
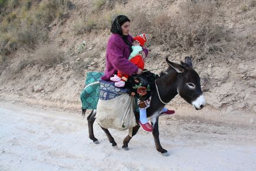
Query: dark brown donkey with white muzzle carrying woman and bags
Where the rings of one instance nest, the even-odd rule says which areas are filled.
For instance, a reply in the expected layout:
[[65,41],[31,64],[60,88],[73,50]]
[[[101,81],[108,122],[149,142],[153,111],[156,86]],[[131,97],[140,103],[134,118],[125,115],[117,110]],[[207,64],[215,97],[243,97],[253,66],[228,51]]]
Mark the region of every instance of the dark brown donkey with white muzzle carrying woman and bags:
[[[182,61],[180,64],[173,63],[166,58],[166,62],[169,68],[160,73],[160,77],[155,80],[155,86],[151,87],[152,99],[150,102],[150,107],[147,108],[147,117],[150,117],[150,121],[153,127],[153,137],[155,139],[156,150],[163,154],[163,156],[168,156],[168,151],[163,149],[159,140],[159,128],[158,119],[159,114],[163,107],[169,103],[172,98],[177,94],[182,97],[189,104],[192,104],[196,110],[200,110],[205,106],[205,98],[202,94],[200,77],[195,70],[193,70],[191,57],[185,57],[185,63]],[[83,115],[85,110],[83,111]],[[88,121],[88,131],[89,137],[94,143],[99,144],[99,141],[94,137],[93,133],[93,123],[95,121],[96,110],[91,111],[87,117]],[[135,114],[136,121],[139,121],[139,113]],[[133,127],[132,136],[134,136],[139,130],[140,126]],[[111,136],[109,130],[101,127],[106,133],[109,142],[113,147],[117,147],[114,138]],[[128,143],[132,137],[126,136],[123,140],[123,149],[128,150]]]

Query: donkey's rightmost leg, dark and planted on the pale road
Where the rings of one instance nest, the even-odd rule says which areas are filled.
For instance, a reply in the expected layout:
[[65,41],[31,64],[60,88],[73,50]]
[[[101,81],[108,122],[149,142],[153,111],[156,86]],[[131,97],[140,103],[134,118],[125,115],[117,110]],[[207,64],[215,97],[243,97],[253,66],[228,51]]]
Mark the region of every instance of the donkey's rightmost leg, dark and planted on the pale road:
[[169,154],[168,154],[167,150],[163,149],[163,147],[160,144],[158,119],[159,119],[159,116],[156,117],[156,120],[154,121],[155,123],[152,123],[152,125],[153,125],[153,136],[154,136],[154,140],[155,140],[156,150],[158,152],[162,153],[163,156],[168,156]]

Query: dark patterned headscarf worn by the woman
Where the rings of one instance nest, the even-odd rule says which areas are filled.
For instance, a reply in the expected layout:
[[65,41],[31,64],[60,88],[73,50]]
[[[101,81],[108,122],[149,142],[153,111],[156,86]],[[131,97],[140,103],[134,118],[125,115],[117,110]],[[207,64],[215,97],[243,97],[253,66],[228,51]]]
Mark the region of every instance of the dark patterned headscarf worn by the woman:
[[114,21],[112,22],[110,31],[113,34],[122,35],[122,38],[123,38],[124,42],[126,42],[126,44],[129,45],[130,51],[132,52],[132,44],[127,39],[128,35],[123,35],[123,31],[122,31],[122,28],[121,28],[122,24],[124,24],[124,22],[126,22],[126,21],[130,22],[130,19],[128,17],[126,17],[125,15],[117,16],[114,19]]

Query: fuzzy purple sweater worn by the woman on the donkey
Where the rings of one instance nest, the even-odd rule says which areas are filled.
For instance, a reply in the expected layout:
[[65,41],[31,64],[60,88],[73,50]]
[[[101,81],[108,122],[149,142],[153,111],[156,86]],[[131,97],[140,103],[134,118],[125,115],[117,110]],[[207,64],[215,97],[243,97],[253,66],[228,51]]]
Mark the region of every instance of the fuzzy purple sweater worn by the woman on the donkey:
[[[132,44],[132,36],[128,36],[128,41]],[[143,51],[148,54],[148,51],[143,48]],[[138,67],[131,63],[128,58],[130,55],[129,45],[124,42],[119,34],[111,34],[106,49],[106,68],[102,80],[109,81],[117,73],[117,70],[122,73],[132,75],[137,73]]]

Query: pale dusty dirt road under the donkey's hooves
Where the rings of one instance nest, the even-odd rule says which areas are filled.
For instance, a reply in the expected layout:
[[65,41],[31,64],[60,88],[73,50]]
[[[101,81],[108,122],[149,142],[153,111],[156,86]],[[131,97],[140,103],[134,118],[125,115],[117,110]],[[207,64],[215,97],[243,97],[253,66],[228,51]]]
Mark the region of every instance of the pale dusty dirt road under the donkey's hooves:
[[116,150],[96,125],[93,144],[80,113],[1,101],[0,118],[0,170],[256,170],[255,127],[162,117],[164,157],[142,130],[124,151],[127,132],[111,130]]

